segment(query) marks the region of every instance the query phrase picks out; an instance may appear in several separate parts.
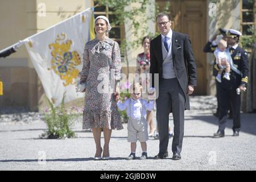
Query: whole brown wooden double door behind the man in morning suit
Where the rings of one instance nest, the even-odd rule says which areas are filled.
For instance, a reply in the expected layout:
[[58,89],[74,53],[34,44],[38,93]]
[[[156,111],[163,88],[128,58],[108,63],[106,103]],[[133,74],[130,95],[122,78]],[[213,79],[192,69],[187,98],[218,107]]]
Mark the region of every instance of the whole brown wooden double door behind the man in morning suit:
[[172,30],[189,35],[197,66],[197,86],[193,94],[206,95],[207,57],[203,48],[207,43],[207,0],[156,0],[156,5],[160,11],[169,6]]

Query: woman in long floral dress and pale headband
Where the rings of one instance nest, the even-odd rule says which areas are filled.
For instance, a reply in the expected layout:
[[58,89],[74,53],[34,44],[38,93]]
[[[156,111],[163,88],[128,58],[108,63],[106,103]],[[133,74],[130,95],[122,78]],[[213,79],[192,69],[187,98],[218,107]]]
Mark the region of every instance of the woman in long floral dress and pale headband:
[[[80,72],[81,84],[86,82],[82,129],[92,129],[96,143],[94,160],[108,160],[112,130],[123,129],[115,101],[115,97],[119,97],[121,56],[118,43],[106,36],[106,32],[111,29],[108,18],[98,16],[94,26],[96,39],[85,44],[83,67]],[[101,147],[102,130],[104,150]]]

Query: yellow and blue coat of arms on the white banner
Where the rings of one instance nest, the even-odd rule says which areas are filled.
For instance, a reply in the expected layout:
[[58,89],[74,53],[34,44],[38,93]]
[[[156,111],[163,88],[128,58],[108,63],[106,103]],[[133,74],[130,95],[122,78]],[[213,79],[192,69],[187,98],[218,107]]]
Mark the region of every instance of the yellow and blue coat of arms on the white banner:
[[62,33],[57,35],[55,43],[49,44],[51,49],[51,68],[63,80],[63,85],[75,85],[79,75],[76,67],[81,64],[81,59],[77,51],[70,51],[72,40],[66,40],[67,35]]

